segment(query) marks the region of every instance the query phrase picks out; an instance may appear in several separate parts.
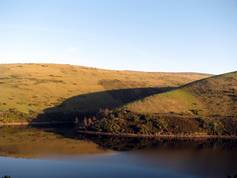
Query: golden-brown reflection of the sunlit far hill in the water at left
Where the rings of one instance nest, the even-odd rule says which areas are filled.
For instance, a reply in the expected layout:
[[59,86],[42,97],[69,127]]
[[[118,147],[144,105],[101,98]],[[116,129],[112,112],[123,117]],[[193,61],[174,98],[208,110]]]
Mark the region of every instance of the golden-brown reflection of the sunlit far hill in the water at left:
[[[26,127],[0,128],[0,156],[33,158],[107,152],[91,141],[67,138],[49,132],[50,128],[47,130],[48,132]],[[71,128],[60,130],[65,134],[72,132]]]

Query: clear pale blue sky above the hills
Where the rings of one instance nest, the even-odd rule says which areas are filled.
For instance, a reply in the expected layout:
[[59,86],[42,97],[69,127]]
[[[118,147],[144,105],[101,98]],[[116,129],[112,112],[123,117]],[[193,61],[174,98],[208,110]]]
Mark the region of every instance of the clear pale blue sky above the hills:
[[237,0],[0,0],[0,62],[237,70]]

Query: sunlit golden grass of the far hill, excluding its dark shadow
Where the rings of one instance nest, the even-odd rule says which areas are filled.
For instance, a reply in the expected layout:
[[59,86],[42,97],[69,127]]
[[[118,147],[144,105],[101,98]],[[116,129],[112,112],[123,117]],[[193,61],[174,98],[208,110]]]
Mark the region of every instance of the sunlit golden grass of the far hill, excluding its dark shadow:
[[180,86],[208,76],[198,73],[102,70],[57,64],[1,64],[0,114],[9,109],[26,114],[40,113],[67,98],[82,94],[125,88]]

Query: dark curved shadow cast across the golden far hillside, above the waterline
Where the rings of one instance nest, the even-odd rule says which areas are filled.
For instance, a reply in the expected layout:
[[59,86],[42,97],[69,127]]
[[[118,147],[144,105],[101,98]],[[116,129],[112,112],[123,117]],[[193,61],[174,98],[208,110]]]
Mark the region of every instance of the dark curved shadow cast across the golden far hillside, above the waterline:
[[66,99],[59,105],[46,108],[32,122],[73,122],[94,116],[100,109],[115,109],[147,96],[167,92],[174,87],[129,88],[87,93]]

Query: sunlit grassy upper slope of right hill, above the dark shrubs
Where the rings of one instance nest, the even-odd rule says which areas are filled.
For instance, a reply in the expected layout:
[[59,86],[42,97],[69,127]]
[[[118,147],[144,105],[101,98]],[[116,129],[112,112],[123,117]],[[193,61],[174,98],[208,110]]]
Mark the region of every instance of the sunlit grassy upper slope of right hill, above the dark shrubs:
[[152,95],[126,106],[139,113],[182,113],[237,116],[237,72],[195,81],[170,92]]

